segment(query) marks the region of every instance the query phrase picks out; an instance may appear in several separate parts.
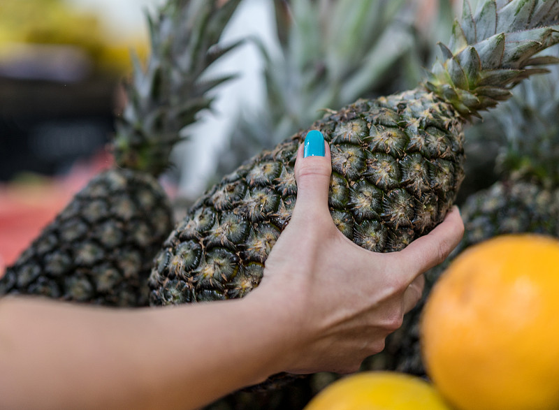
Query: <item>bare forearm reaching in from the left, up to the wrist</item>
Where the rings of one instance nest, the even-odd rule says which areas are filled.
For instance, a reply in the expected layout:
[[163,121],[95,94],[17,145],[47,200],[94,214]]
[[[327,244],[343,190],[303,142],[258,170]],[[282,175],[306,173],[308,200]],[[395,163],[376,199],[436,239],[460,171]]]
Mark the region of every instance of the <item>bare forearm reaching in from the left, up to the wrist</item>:
[[293,337],[270,309],[0,300],[0,407],[199,406],[282,369]]

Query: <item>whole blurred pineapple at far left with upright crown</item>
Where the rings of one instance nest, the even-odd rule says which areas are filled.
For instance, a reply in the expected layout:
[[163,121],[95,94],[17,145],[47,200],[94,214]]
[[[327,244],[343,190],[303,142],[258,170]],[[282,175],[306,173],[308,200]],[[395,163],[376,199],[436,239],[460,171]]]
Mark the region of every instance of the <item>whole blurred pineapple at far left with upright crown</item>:
[[157,177],[179,131],[209,108],[205,68],[238,43],[216,46],[240,0],[170,0],[149,20],[152,54],[134,60],[128,103],[117,118],[115,166],[80,191],[0,279],[22,293],[100,305],[147,305],[152,258],[173,228]]

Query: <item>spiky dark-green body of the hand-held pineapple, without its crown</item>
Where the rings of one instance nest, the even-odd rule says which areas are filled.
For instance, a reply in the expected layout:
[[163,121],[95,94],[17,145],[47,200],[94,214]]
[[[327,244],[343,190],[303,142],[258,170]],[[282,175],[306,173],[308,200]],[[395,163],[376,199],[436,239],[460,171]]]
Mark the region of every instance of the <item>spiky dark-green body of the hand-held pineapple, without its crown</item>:
[[[372,251],[398,251],[444,218],[463,179],[460,116],[415,89],[357,101],[312,129],[331,144],[337,228]],[[306,131],[212,187],[173,230],[150,276],[152,305],[240,298],[259,284],[289,222]]]

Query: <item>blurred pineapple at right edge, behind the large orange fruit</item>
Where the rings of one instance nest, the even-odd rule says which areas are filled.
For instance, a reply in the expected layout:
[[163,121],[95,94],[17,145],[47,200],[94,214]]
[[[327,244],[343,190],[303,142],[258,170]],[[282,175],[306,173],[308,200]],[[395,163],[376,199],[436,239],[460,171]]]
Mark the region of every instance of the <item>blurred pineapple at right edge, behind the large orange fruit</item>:
[[430,288],[460,252],[496,235],[540,233],[559,237],[559,71],[533,78],[489,116],[491,121],[470,129],[470,138],[497,140],[500,153],[487,189],[473,193],[461,207],[463,240],[442,265],[426,274],[424,298],[391,335],[378,358],[403,372],[425,375],[419,342],[419,318]]

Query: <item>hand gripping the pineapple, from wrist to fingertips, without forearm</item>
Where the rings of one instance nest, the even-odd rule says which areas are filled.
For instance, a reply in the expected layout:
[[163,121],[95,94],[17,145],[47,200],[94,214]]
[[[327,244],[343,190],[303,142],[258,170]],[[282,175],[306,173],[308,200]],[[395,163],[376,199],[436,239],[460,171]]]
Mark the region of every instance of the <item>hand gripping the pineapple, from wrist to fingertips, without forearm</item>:
[[[423,272],[444,261],[463,235],[454,207],[428,235],[393,253],[368,251],[347,239],[328,210],[331,156],[303,158],[291,221],[266,261],[254,297],[284,309],[289,338],[284,372],[356,372],[402,324],[421,298]],[[250,297],[250,295],[249,295]]]

